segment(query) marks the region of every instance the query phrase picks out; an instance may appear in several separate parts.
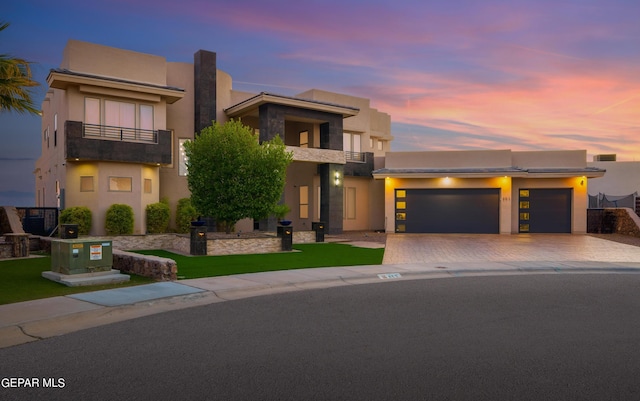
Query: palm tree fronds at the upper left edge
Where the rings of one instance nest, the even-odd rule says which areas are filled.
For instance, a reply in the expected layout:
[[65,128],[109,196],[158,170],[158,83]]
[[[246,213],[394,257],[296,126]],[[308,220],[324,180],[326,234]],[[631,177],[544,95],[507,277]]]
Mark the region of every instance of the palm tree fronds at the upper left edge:
[[[0,31],[9,26],[0,23]],[[0,111],[40,114],[33,104],[32,88],[40,85],[31,75],[31,63],[0,54]]]

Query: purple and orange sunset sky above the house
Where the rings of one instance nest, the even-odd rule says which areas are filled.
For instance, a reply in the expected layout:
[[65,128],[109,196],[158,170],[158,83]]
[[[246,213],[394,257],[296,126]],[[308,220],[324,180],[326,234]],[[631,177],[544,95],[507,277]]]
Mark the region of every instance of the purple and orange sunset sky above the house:
[[[193,62],[234,88],[362,96],[392,150],[586,149],[640,161],[638,0],[117,0],[2,6],[39,105],[68,39]],[[0,204],[35,204],[38,117],[0,112]]]

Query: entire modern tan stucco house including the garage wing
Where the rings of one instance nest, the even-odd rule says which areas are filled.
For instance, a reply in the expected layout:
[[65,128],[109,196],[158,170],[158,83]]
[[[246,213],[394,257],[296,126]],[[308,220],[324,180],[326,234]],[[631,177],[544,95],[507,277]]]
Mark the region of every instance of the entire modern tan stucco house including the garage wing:
[[[329,233],[584,233],[587,180],[605,173],[586,151],[391,152],[391,118],[368,99],[237,91],[209,51],[174,63],[70,40],[47,82],[36,205],[88,206],[94,235],[114,203],[133,207],[136,234],[148,204],[166,197],[175,211],[190,195],[183,145],[212,120],[284,139],[294,230],[323,221]],[[236,225],[256,228],[275,221]]]

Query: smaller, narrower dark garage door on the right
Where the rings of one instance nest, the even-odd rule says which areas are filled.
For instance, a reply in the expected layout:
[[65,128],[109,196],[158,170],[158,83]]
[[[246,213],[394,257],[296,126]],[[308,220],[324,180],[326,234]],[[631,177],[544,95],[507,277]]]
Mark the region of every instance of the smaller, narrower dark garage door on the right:
[[570,233],[571,188],[520,189],[521,233]]

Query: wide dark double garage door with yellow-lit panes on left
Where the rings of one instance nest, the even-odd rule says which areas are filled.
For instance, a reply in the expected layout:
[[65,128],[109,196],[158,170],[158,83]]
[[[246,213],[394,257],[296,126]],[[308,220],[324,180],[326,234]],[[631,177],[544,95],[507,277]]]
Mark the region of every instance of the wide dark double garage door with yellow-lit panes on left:
[[396,231],[498,234],[500,189],[396,190]]

